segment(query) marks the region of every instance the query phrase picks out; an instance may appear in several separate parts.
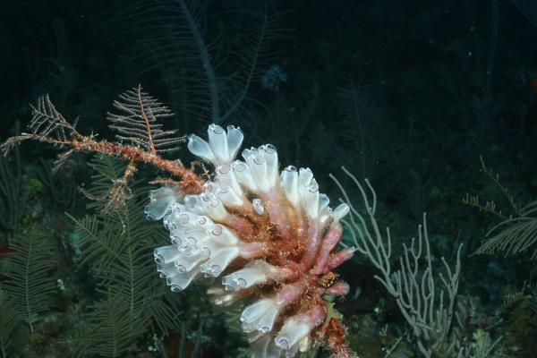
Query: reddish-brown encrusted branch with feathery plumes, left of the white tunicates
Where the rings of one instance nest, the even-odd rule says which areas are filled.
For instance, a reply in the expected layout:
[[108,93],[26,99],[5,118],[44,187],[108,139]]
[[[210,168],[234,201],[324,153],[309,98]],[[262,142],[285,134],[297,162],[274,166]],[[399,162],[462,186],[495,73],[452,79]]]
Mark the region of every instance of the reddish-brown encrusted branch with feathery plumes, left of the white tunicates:
[[[59,155],[56,166],[61,166],[73,152],[102,153],[129,160],[129,167],[132,168],[140,162],[155,166],[181,179],[183,192],[200,193],[204,181],[199,175],[184,167],[181,161],[167,160],[159,154],[176,149],[177,144],[183,141],[183,137],[172,136],[175,131],[163,131],[162,124],[158,124],[158,119],[171,115],[169,109],[143,92],[141,86],[121,95],[115,101],[115,107],[121,114],[108,115],[112,122],[111,128],[120,133],[117,135],[118,140],[127,141],[128,144],[97,141],[94,135],[82,135],[77,131],[75,123],[67,121],[48,96],[44,96],[38,99],[35,107],[32,106],[30,133],[9,138],[0,145],[0,149],[5,156],[22,141],[41,141],[60,148],[69,147],[68,151]],[[125,173],[127,179],[133,172],[134,170]]]

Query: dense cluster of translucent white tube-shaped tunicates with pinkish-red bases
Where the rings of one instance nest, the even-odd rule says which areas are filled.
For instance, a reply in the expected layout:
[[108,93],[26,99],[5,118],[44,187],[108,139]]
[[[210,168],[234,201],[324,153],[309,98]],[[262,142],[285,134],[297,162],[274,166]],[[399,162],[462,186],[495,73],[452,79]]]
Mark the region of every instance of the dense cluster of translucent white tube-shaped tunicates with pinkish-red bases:
[[251,301],[240,320],[253,357],[293,357],[318,340],[345,356],[343,329],[330,320],[323,295],[349,290],[333,272],[354,252],[333,252],[348,206],[331,209],[309,168],[279,173],[274,146],[244,149],[235,160],[243,132],[216,124],[208,132],[209,142],[191,135],[188,143],[215,167],[202,192],[164,186],[149,194],[146,214],[162,219],[171,239],[155,250],[160,276],[172,291],[198,277],[222,277],[209,288],[214,303]]

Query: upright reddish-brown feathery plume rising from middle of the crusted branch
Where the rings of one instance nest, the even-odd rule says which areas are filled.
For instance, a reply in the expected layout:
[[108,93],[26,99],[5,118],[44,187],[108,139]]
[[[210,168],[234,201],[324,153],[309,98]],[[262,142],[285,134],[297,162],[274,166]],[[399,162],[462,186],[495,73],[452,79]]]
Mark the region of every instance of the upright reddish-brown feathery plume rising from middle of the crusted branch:
[[172,116],[172,112],[156,98],[144,92],[141,85],[128,90],[114,101],[118,114],[108,113],[110,128],[118,132],[116,138],[152,154],[179,149],[183,137],[177,131],[165,131],[158,120]]

